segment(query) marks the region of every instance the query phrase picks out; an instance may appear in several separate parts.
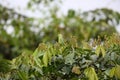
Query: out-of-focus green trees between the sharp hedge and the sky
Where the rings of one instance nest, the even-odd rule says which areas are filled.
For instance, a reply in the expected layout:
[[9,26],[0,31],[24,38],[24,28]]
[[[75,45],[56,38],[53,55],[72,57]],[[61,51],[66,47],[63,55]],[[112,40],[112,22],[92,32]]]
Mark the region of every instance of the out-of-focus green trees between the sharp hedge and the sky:
[[[33,0],[31,5],[36,1]],[[49,5],[46,7],[49,8]],[[34,50],[40,42],[55,43],[58,34],[62,34],[66,40],[71,35],[77,36],[79,43],[98,35],[103,38],[104,35],[116,32],[115,27],[120,18],[118,12],[108,9],[84,13],[69,10],[67,15],[61,17],[57,16],[58,12],[59,8],[52,7],[48,10],[49,17],[35,19],[0,5],[0,53],[3,57],[12,59],[24,49]],[[11,28],[12,31],[8,31]]]

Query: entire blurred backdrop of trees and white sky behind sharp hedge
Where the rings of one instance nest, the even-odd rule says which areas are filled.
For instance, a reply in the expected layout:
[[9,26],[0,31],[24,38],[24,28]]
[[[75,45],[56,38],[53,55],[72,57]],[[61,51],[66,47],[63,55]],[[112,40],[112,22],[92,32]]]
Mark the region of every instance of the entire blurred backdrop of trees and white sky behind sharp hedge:
[[120,32],[120,0],[0,0],[0,59],[34,51],[58,34],[78,43]]

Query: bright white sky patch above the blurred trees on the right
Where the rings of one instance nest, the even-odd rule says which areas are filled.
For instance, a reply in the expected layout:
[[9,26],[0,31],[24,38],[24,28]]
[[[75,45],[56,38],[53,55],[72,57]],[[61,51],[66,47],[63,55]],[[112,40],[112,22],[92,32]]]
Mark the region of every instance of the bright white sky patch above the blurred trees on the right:
[[69,9],[89,11],[98,8],[110,8],[120,12],[119,5],[120,0],[64,0],[61,11],[66,14]]

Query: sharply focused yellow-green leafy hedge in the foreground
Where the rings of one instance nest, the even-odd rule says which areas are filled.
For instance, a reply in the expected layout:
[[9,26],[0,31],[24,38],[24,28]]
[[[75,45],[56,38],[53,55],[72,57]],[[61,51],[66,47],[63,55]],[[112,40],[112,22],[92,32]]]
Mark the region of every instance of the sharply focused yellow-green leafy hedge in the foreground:
[[103,42],[99,39],[94,40],[92,44],[85,42],[89,48],[84,44],[74,45],[70,40],[64,40],[60,34],[55,44],[40,43],[33,53],[25,51],[9,61],[11,64],[4,64],[9,66],[9,69],[1,67],[8,71],[1,71],[1,79],[120,79],[119,34],[113,34]]

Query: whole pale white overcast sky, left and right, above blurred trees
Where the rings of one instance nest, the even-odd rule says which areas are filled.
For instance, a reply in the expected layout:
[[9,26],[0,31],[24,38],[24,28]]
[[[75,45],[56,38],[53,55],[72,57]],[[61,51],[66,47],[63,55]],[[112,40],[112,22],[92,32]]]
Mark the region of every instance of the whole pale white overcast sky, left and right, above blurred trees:
[[[40,15],[39,12],[32,13],[24,10],[28,1],[29,0],[0,0],[0,4],[14,9],[20,7],[21,10],[18,10],[18,12],[27,16],[38,17]],[[67,14],[69,9],[89,11],[98,8],[109,8],[120,13],[120,0],[63,0],[60,8],[63,14]],[[118,27],[118,31],[120,32],[120,26]]]

